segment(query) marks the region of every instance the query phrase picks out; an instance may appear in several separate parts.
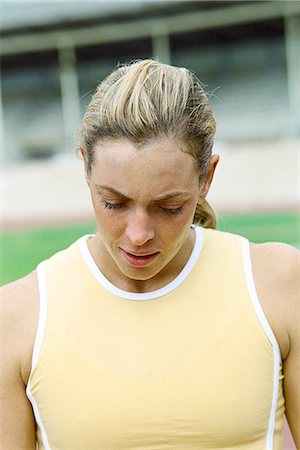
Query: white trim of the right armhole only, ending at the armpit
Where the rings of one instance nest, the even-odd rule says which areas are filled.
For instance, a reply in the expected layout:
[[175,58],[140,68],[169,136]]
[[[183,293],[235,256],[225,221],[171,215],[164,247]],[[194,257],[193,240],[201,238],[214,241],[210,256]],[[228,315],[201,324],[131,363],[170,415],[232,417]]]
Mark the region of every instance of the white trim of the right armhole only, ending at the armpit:
[[279,344],[277,342],[276,336],[273,333],[273,330],[268,322],[268,319],[264,313],[264,310],[261,306],[256,287],[254,282],[254,276],[253,276],[253,270],[252,270],[252,262],[251,262],[251,253],[250,253],[250,242],[248,239],[242,237],[242,247],[243,247],[243,261],[244,261],[244,270],[245,270],[245,276],[247,280],[247,286],[248,291],[250,294],[250,298],[252,301],[252,305],[254,307],[254,310],[256,312],[256,315],[258,317],[258,320],[260,321],[260,324],[268,337],[270,343],[272,344],[272,347],[274,351],[277,354],[277,357],[279,358],[279,362],[281,362],[281,354],[280,354],[280,348]]

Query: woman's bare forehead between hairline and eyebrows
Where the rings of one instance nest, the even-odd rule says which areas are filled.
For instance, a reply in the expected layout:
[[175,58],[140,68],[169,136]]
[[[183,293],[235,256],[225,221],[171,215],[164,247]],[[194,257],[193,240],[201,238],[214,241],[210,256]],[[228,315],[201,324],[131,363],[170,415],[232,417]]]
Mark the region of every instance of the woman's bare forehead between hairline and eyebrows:
[[193,191],[199,178],[193,157],[168,138],[138,147],[127,139],[98,144],[91,176],[98,185],[143,199],[174,190]]

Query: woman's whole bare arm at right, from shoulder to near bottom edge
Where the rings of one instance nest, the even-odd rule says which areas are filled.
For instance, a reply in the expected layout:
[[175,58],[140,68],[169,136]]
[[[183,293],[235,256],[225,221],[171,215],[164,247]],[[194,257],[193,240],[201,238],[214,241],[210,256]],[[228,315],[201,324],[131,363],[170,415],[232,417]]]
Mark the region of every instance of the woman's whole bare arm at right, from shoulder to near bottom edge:
[[300,253],[280,243],[252,245],[254,278],[283,358],[286,417],[300,448]]

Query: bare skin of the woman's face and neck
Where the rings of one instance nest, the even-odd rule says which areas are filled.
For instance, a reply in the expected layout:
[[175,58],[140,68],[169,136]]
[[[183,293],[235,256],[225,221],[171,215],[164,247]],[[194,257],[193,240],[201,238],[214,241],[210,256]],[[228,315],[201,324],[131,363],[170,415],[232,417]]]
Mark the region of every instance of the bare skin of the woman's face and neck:
[[[208,190],[192,156],[173,139],[138,148],[127,139],[106,141],[95,148],[87,181],[97,222],[90,250],[107,278],[138,292],[174,279],[191,254],[194,211]],[[157,255],[136,267],[124,251]]]

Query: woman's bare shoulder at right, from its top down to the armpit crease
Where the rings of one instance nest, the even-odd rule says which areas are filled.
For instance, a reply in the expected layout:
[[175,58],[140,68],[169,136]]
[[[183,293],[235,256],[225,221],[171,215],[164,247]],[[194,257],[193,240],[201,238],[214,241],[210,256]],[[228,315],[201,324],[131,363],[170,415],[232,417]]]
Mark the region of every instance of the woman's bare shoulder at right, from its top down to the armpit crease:
[[251,260],[258,296],[284,358],[299,327],[300,252],[277,242],[251,244]]

